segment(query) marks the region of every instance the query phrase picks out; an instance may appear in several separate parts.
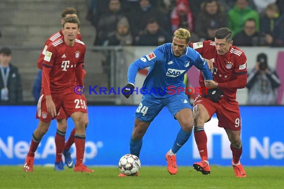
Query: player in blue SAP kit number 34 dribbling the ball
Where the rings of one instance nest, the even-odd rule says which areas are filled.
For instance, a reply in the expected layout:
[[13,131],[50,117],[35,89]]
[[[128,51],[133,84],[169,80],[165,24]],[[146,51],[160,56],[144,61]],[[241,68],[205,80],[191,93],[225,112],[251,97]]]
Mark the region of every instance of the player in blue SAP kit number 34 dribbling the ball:
[[[129,98],[135,88],[137,72],[150,67],[143,84],[142,101],[136,110],[134,130],[130,139],[130,153],[139,157],[144,136],[151,121],[161,109],[166,106],[181,129],[171,149],[166,153],[167,170],[170,174],[177,173],[175,154],[189,139],[193,128],[192,107],[185,95],[183,83],[184,74],[195,66],[202,71],[205,80],[212,80],[207,62],[202,56],[188,46],[190,32],[186,29],[177,29],[172,43],[165,43],[129,66],[128,84],[123,94]],[[149,93],[150,92],[150,93]],[[126,177],[123,173],[119,177]],[[138,173],[135,175],[138,176]]]

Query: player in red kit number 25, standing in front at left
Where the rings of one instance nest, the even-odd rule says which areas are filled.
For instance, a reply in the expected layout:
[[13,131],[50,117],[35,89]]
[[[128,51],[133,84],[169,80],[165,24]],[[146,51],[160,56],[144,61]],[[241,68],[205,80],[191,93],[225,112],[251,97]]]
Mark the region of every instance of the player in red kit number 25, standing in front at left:
[[47,132],[51,120],[58,114],[60,107],[67,116],[71,116],[75,127],[76,165],[75,172],[93,172],[83,164],[85,152],[85,123],[83,114],[86,111],[81,95],[74,93],[74,87],[83,86],[82,64],[86,47],[76,39],[80,22],[77,17],[64,18],[63,37],[50,43],[42,62],[42,95],[38,100],[36,117],[38,127],[32,134],[24,171],[33,171],[34,153]]

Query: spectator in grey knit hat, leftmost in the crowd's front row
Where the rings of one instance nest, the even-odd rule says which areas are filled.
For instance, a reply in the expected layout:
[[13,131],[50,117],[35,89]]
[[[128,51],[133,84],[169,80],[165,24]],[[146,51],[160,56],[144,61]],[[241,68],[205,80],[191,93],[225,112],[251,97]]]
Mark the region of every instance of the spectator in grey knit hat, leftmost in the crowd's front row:
[[110,34],[104,45],[132,45],[133,37],[130,32],[130,25],[127,17],[122,17],[118,24],[117,30]]

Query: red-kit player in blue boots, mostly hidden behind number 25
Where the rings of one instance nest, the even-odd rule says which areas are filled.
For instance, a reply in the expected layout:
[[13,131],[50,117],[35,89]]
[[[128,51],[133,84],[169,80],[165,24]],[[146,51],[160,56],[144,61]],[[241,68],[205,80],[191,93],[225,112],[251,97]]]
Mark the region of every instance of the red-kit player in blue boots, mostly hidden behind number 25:
[[[68,7],[63,12],[61,13],[62,19],[61,19],[61,24],[63,24],[63,18],[69,17],[69,16],[75,16],[78,17],[78,12],[75,8],[73,7]],[[44,59],[44,56],[46,54],[46,49],[50,43],[53,43],[54,41],[60,39],[63,37],[62,29],[53,35],[51,35],[45,42],[44,47],[42,49],[42,53],[40,54],[38,60],[37,60],[37,67],[42,70],[42,62]],[[77,39],[81,40],[82,36],[80,33],[76,36]],[[86,71],[83,68],[82,64],[82,72],[83,75],[82,77],[84,78],[86,75]],[[84,104],[87,104],[87,100],[84,94],[82,94],[82,100]],[[86,108],[86,113],[84,113],[84,121],[85,125],[87,126],[89,123],[88,120],[88,112],[87,112],[87,106],[85,105]],[[64,155],[65,158],[65,164],[67,167],[72,168],[73,167],[73,160],[71,158],[71,154],[69,152],[72,144],[74,143],[74,134],[75,134],[75,127],[71,131],[70,137],[65,143],[65,134],[66,134],[66,129],[67,129],[67,115],[63,111],[62,108],[60,108],[58,115],[55,117],[56,123],[57,123],[57,130],[55,134],[55,146],[56,146],[56,158],[55,158],[55,164],[54,164],[54,170],[55,171],[62,171],[64,170],[64,165],[62,161],[62,154]]]

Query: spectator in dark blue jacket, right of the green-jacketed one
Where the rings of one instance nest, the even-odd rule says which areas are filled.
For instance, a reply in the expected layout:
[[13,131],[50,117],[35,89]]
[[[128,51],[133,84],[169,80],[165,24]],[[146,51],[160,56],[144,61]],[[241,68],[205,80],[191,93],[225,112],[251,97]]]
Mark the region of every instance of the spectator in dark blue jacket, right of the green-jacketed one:
[[260,32],[266,37],[273,37],[275,24],[279,19],[279,8],[277,4],[270,4],[265,9],[265,15],[261,17]]

